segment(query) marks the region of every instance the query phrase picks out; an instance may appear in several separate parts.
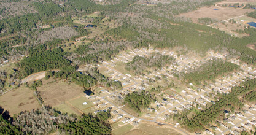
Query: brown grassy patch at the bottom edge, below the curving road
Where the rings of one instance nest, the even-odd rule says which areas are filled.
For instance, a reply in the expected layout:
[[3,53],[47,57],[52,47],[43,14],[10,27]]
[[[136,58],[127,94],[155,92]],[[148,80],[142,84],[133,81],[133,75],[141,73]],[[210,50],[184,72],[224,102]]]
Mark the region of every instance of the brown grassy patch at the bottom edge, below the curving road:
[[124,133],[130,134],[180,134],[169,126],[159,126],[156,123],[141,122],[136,129]]

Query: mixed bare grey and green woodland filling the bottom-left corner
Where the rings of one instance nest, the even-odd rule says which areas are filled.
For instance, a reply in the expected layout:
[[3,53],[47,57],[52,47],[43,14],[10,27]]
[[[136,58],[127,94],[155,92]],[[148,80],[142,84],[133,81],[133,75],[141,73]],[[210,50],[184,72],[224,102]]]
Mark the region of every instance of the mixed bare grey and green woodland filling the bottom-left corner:
[[0,132],[2,134],[111,134],[111,126],[107,123],[110,112],[99,112],[95,116],[85,114],[81,118],[76,115],[61,114],[49,107],[30,112],[21,112],[8,120],[0,114]]

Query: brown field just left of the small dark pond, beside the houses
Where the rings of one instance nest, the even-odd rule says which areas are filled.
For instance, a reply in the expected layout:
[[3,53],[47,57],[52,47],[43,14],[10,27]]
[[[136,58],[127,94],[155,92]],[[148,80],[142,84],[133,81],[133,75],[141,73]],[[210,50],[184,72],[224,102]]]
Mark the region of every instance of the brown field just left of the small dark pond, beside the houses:
[[[62,80],[53,83],[53,79],[43,80],[43,85],[38,87],[45,105],[56,106],[72,98],[76,98],[79,93],[83,92],[83,88],[79,85],[71,83],[70,85]],[[48,83],[48,84],[47,84]]]

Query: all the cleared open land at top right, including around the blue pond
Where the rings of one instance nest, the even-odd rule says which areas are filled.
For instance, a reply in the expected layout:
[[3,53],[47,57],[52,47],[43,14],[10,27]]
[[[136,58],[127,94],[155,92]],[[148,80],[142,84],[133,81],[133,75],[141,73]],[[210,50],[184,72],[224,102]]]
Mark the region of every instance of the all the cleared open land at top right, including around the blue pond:
[[[239,0],[228,0],[216,3],[214,6],[210,7],[201,7],[192,12],[182,13],[177,15],[178,17],[187,17],[191,18],[193,23],[198,23],[199,18],[211,18],[212,20],[218,21],[212,25],[213,28],[217,28],[225,33],[230,34],[231,36],[244,37],[248,36],[247,34],[235,32],[236,30],[244,30],[248,25],[248,22],[256,21],[254,18],[246,16],[246,13],[253,12],[254,9],[243,9],[243,7],[233,8],[233,7],[223,7],[222,4],[233,5],[239,3],[240,5],[244,4],[256,4],[256,1],[239,1]],[[228,22],[229,19],[234,19],[236,23]],[[224,21],[222,23],[222,21]]]

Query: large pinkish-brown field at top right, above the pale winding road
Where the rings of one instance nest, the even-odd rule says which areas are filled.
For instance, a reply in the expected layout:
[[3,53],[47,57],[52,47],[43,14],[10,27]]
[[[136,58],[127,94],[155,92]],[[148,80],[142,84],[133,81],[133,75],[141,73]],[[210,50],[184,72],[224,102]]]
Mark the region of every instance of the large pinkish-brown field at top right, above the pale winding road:
[[[223,2],[236,2],[236,1],[223,1]],[[241,1],[237,1],[241,2]],[[219,10],[214,10],[219,9]],[[200,9],[194,10],[188,13],[182,13],[178,17],[187,17],[191,18],[193,23],[197,23],[198,18],[212,18],[214,20],[222,21],[229,18],[238,17],[244,15],[247,12],[253,12],[253,9],[220,9],[216,6],[201,7]]]

